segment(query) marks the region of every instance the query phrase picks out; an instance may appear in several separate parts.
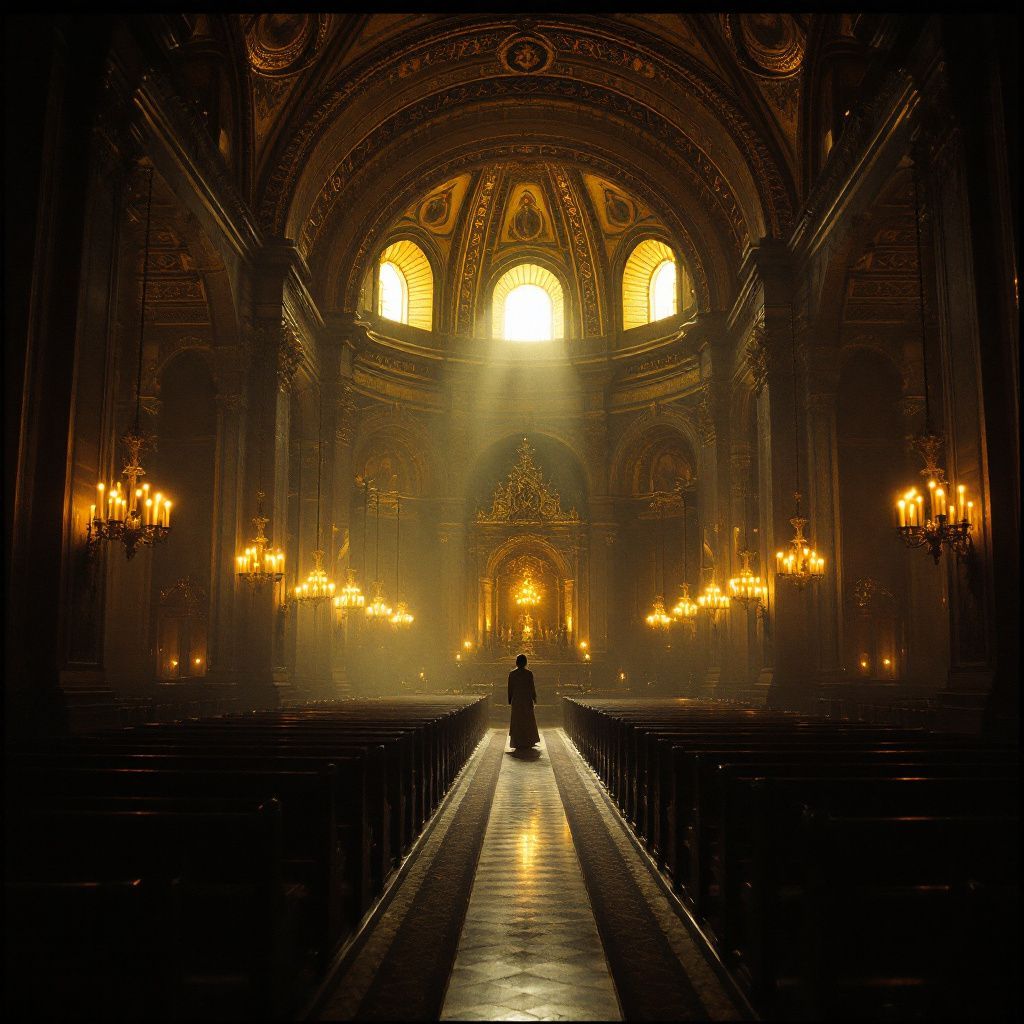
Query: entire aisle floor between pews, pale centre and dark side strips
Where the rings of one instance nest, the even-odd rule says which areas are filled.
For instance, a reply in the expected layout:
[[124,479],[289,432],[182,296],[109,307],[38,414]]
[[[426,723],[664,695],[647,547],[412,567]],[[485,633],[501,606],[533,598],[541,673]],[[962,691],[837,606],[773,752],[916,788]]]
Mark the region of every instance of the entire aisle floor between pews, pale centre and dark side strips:
[[489,731],[313,1018],[744,1019],[597,777],[541,737]]

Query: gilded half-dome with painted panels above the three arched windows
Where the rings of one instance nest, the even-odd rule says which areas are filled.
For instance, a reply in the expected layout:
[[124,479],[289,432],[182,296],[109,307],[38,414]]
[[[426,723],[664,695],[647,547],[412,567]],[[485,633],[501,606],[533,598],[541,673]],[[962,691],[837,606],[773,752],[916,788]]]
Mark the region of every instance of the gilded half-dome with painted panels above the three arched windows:
[[535,262],[567,285],[573,334],[603,335],[616,321],[608,296],[617,290],[608,284],[637,242],[656,238],[679,252],[662,218],[627,188],[555,161],[495,162],[452,177],[418,197],[381,238],[387,245],[403,237],[434,264],[435,329],[452,334],[479,333],[477,310],[495,281]]

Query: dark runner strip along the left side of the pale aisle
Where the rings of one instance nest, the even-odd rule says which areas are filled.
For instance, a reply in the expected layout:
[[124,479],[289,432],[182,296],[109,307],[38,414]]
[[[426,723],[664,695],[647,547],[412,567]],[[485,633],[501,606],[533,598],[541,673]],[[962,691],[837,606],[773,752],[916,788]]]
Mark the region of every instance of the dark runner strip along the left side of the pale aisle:
[[504,749],[504,730],[493,731],[430,873],[359,1004],[357,1020],[437,1020],[440,1016]]

